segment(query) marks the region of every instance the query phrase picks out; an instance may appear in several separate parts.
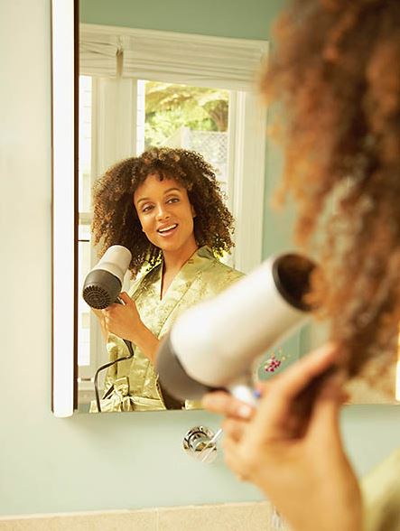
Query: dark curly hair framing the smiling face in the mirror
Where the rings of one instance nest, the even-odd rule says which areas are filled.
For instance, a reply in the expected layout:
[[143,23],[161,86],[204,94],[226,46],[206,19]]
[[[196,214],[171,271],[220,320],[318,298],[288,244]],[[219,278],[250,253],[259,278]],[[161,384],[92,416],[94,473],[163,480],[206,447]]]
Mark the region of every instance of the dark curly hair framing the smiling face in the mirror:
[[136,275],[143,265],[162,258],[160,248],[146,238],[134,206],[134,193],[148,175],[175,179],[188,192],[196,217],[194,237],[199,247],[209,246],[216,256],[233,247],[233,217],[223,202],[215,173],[203,157],[186,149],[151,148],[139,157],[116,163],[93,187],[94,245],[102,256],[112,245],[132,252],[129,269]]

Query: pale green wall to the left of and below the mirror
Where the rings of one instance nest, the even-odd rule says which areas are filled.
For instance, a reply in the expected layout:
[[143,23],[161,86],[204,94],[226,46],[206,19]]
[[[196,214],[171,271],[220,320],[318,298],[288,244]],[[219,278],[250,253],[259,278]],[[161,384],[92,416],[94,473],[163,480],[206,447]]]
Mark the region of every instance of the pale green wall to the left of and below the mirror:
[[[181,452],[188,428],[219,425],[213,415],[51,415],[50,0],[3,0],[0,20],[0,514],[260,499],[221,461],[201,465]],[[343,428],[365,471],[400,444],[400,410],[352,406]]]

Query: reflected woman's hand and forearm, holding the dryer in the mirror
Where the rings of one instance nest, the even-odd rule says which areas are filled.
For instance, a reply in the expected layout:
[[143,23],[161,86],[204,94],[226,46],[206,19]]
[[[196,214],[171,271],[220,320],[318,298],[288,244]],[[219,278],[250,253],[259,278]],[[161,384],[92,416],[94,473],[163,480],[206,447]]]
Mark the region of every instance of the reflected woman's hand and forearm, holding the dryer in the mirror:
[[131,297],[125,292],[120,293],[119,297],[124,304],[111,304],[105,310],[101,310],[107,332],[135,343],[154,365],[160,341],[144,326]]

